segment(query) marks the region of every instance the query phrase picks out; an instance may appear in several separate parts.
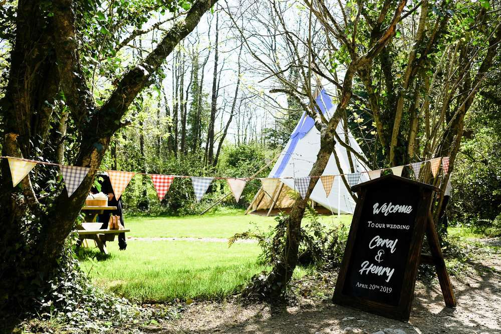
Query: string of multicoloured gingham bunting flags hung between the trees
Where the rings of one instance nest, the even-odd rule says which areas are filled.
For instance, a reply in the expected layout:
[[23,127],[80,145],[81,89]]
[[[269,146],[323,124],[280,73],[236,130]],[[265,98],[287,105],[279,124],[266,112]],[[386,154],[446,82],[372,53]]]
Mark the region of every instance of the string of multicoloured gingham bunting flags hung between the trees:
[[[245,187],[245,184],[249,180],[261,180],[262,187],[264,190],[273,191],[274,185],[278,183],[280,179],[294,179],[297,190],[300,192],[301,196],[304,198],[306,195],[306,190],[308,189],[308,184],[310,183],[311,178],[321,178],[322,185],[324,186],[324,190],[326,195],[328,196],[330,193],[330,189],[332,187],[332,183],[335,176],[344,175],[348,179],[348,183],[350,186],[354,186],[358,184],[361,180],[361,175],[363,173],[368,173],[369,178],[371,180],[380,177],[381,172],[385,170],[391,170],[394,175],[400,176],[402,174],[402,170],[405,166],[411,166],[414,171],[414,176],[416,180],[419,178],[419,173],[421,170],[421,166],[427,162],[431,164],[431,173],[433,177],[438,175],[438,170],[440,165],[442,166],[442,171],[444,174],[448,174],[449,170],[449,157],[441,157],[441,158],[433,158],[425,161],[413,162],[411,164],[395,166],[391,168],[382,168],[371,171],[363,171],[356,173],[345,173],[345,174],[334,174],[334,175],[318,175],[318,176],[302,176],[302,177],[280,177],[280,178],[257,178],[257,177],[249,177],[249,178],[235,178],[230,176],[225,177],[199,177],[199,176],[189,176],[189,175],[161,175],[161,174],[151,174],[151,173],[136,173],[136,172],[127,172],[127,171],[116,171],[116,170],[106,170],[101,168],[90,168],[90,167],[80,167],[80,166],[70,166],[57,164],[46,161],[37,161],[37,160],[29,160],[24,158],[16,158],[16,157],[6,157],[0,156],[0,158],[9,160],[9,167],[11,169],[11,176],[13,186],[17,186],[21,180],[23,180],[28,173],[34,168],[35,165],[49,165],[49,166],[58,166],[61,169],[61,173],[63,174],[63,180],[66,184],[66,189],[68,192],[68,197],[70,197],[75,190],[80,186],[83,179],[87,176],[87,173],[90,170],[96,170],[101,172],[107,172],[110,176],[110,180],[112,182],[113,190],[118,197],[125,190],[130,180],[134,175],[148,175],[152,178],[153,185],[158,194],[158,199],[161,201],[165,196],[165,193],[169,190],[170,184],[174,178],[190,178],[192,181],[193,189],[195,191],[195,196],[197,202],[200,201],[202,196],[207,191],[212,180],[226,180],[228,183],[231,192],[235,200],[238,202],[240,195]],[[272,189],[273,188],[273,189]],[[272,194],[270,194],[272,196]]]

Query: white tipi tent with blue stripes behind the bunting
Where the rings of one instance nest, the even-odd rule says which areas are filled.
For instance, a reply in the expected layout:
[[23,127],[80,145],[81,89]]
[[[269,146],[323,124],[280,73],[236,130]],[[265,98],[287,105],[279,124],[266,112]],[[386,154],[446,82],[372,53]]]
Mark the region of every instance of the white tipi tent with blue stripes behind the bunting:
[[[324,89],[322,89],[316,100],[326,119],[330,119],[334,114],[335,107]],[[345,139],[342,122],[338,124],[336,132],[340,138]],[[351,132],[348,133],[348,138],[350,146],[363,156],[362,150]],[[331,154],[323,175],[350,173],[349,152],[340,144],[337,144],[335,149],[342,171],[336,165],[334,154]],[[269,214],[273,208],[283,209],[292,207],[294,201],[290,199],[287,192],[294,189],[294,178],[308,176],[313,163],[317,160],[319,150],[320,133],[314,126],[314,120],[304,113],[294,129],[291,139],[268,176],[274,179],[268,179],[268,182],[264,182],[263,184],[266,193],[263,189],[259,190],[247,212],[251,211],[250,209],[252,211],[268,209]],[[366,172],[369,170],[353,154],[350,155],[356,172]],[[360,182],[369,180],[367,173],[362,173],[360,177]],[[310,199],[330,209],[333,213],[353,213],[355,209],[355,201],[349,190],[345,187],[341,176],[334,178],[329,197],[326,197],[324,187],[321,181],[319,181],[313,189]]]

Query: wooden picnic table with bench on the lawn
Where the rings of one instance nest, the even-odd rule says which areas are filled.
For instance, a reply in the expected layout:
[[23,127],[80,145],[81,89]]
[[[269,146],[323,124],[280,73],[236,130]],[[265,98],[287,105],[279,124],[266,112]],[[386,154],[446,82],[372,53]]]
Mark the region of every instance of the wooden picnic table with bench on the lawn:
[[[103,213],[104,210],[115,210],[116,208],[116,206],[84,206],[82,207],[82,211],[84,211],[85,213],[86,222],[96,222],[98,214]],[[110,230],[109,228],[85,229],[83,227],[83,224],[77,225],[79,237],[77,249],[80,247],[84,239],[92,239],[96,242],[99,250],[101,250],[101,252],[105,254],[108,254],[108,249],[106,249],[106,241],[115,240],[115,236],[118,235],[118,233],[130,232],[129,228],[122,230]]]

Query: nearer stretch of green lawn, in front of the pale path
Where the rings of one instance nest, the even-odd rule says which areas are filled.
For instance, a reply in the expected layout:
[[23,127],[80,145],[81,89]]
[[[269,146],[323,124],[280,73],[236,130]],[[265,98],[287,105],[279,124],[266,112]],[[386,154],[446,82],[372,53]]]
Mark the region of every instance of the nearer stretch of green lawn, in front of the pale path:
[[[95,284],[141,302],[227,296],[265,270],[257,244],[129,239],[126,251],[108,247],[108,256],[85,249],[83,269]],[[102,260],[89,259],[96,255]]]

